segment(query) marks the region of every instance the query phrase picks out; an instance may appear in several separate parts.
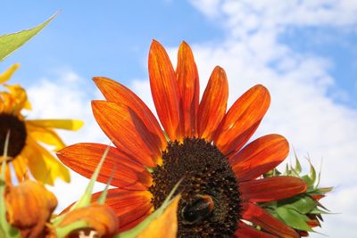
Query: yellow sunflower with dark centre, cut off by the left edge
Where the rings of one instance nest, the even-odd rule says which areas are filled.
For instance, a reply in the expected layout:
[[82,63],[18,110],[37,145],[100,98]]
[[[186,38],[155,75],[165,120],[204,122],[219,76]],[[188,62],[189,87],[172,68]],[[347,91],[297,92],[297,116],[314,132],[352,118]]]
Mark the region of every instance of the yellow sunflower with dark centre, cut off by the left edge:
[[70,182],[70,173],[51,152],[41,144],[53,146],[54,150],[62,149],[62,139],[54,128],[77,130],[83,122],[74,119],[26,119],[23,110],[31,110],[26,90],[20,85],[5,85],[19,64],[14,64],[0,75],[0,161],[4,160],[4,141],[10,131],[8,157],[6,158],[6,180],[12,181],[12,166],[18,181],[27,179],[29,173],[38,181],[54,185],[57,177]]

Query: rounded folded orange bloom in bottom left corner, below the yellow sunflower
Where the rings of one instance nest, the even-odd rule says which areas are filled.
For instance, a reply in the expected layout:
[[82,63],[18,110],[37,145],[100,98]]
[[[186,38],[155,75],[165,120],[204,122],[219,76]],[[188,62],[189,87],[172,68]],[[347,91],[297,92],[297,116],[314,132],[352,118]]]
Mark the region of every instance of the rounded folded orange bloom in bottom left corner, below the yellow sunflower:
[[27,180],[6,186],[5,204],[8,222],[21,231],[22,237],[35,238],[44,236],[57,199],[44,185]]

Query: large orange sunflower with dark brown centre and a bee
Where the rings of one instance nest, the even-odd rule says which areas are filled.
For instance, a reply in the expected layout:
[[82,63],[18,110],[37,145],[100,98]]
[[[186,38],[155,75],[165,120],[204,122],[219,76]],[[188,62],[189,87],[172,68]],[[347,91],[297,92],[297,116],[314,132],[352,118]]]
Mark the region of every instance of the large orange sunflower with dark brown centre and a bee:
[[[268,110],[269,91],[253,86],[226,112],[228,80],[216,67],[199,102],[195,60],[185,42],[179,47],[175,71],[165,49],[153,41],[149,77],[164,132],[152,111],[127,87],[94,78],[106,101],[93,101],[93,113],[115,145],[98,181],[108,181],[117,168],[112,185],[118,188],[109,190],[107,203],[119,218],[120,231],[159,208],[183,178],[178,189],[179,237],[299,237],[259,206],[306,190],[296,177],[262,177],[286,158],[286,139],[264,135],[245,145]],[[73,144],[58,157],[90,177],[106,148]]]

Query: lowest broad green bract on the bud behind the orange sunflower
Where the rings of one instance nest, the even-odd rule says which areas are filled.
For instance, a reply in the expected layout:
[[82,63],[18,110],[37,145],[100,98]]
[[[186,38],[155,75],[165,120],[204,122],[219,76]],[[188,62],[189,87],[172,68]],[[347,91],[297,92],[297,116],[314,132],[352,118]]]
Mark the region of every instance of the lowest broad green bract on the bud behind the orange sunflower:
[[306,223],[309,217],[298,213],[295,209],[278,208],[278,217],[286,223],[287,226],[291,226],[295,229],[311,232],[311,227]]

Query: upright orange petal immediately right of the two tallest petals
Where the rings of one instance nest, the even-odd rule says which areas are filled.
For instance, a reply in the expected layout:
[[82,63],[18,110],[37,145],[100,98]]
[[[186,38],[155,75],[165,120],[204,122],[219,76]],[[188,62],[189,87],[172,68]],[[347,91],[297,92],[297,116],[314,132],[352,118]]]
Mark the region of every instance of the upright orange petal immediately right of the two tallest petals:
[[213,135],[220,125],[227,109],[228,80],[226,72],[216,66],[212,71],[208,85],[198,109],[198,137],[212,141]]

